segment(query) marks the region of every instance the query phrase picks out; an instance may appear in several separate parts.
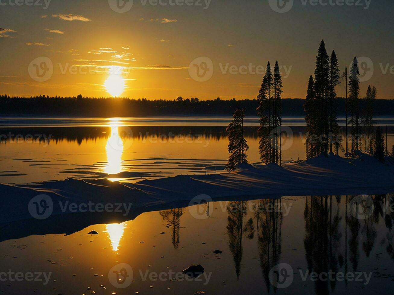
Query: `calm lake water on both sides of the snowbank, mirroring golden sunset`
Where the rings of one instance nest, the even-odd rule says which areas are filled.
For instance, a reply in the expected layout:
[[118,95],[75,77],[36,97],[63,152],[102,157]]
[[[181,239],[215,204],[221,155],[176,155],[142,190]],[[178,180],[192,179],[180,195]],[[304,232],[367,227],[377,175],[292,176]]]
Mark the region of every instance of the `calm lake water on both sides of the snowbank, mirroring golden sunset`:
[[[136,183],[223,173],[230,120],[0,118],[0,183],[67,177]],[[394,118],[375,120],[388,126],[391,147]],[[283,161],[305,159],[305,122],[283,122]],[[251,163],[259,162],[257,126],[257,118],[245,119]],[[393,208],[394,194],[361,201],[355,195],[239,196],[173,203],[165,210],[151,206],[120,224],[87,218],[89,226],[70,231],[59,223],[43,235],[29,234],[39,231],[33,219],[6,224],[0,236],[11,232],[17,239],[0,240],[0,293],[388,293],[394,282]],[[198,277],[182,272],[192,264],[204,268]],[[15,273],[23,274],[20,280]]]

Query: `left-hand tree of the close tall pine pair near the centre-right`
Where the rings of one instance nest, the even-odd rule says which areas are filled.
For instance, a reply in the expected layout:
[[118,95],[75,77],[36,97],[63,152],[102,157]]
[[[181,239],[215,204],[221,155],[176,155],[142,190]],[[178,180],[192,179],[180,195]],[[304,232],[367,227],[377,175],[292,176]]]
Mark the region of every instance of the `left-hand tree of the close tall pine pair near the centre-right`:
[[257,114],[259,116],[260,127],[258,129],[259,153],[262,162],[268,164],[272,160],[272,143],[269,133],[271,132],[271,89],[273,87],[271,65],[267,64],[266,74],[263,77],[260,91],[257,99],[259,106],[257,107]]

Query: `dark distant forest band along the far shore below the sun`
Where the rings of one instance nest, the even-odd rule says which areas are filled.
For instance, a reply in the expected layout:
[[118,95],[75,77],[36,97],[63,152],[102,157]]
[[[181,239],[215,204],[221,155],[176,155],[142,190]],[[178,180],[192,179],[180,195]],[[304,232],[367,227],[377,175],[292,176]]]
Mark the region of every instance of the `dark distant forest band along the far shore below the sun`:
[[[345,115],[345,99],[338,98],[338,115]],[[282,99],[283,116],[305,116],[304,99]],[[374,116],[393,116],[394,100],[373,101]],[[249,100],[147,100],[129,98],[87,98],[36,96],[31,98],[0,96],[0,116],[231,116],[237,109],[256,116],[257,99]]]

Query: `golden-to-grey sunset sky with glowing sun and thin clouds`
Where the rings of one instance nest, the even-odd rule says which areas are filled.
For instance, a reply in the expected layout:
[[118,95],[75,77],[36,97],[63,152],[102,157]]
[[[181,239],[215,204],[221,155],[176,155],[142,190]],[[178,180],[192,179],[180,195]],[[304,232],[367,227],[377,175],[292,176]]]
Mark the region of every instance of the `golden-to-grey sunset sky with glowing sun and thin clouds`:
[[341,72],[360,59],[361,96],[375,85],[393,99],[393,12],[392,0],[0,0],[0,94],[253,99],[278,61],[282,97],[305,98],[323,39]]

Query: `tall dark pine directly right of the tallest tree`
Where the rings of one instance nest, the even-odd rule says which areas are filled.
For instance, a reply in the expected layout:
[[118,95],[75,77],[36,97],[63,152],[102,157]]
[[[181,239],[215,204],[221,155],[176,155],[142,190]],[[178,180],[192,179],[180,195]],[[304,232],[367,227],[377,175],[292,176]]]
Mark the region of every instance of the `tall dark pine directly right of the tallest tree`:
[[336,154],[338,155],[340,142],[338,141],[340,138],[340,128],[337,122],[337,108],[338,104],[336,101],[336,91],[335,87],[339,85],[339,67],[338,67],[338,59],[336,57],[335,51],[331,53],[330,60],[330,98],[329,98],[329,139],[330,139],[330,152],[333,151],[333,146],[335,146]]

